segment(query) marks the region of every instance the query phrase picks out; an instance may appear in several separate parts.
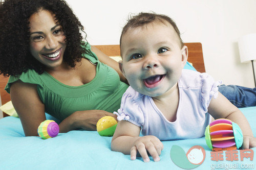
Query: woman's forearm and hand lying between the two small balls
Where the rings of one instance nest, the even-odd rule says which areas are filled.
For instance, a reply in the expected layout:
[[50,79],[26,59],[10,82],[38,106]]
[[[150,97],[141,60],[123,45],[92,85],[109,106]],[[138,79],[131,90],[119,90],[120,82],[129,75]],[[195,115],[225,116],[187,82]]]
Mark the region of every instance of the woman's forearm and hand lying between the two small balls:
[[77,129],[95,131],[98,120],[104,116],[112,116],[116,118],[115,114],[104,110],[76,111],[62,120],[59,124],[59,132],[65,133]]

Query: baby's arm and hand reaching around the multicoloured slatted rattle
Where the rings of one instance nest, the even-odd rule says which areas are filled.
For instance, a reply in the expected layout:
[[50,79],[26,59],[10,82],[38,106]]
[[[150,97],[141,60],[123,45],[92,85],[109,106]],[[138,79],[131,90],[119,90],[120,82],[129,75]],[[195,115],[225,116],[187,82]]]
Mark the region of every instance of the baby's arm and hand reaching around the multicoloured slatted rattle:
[[256,147],[256,138],[253,137],[252,130],[246,117],[236,106],[232,105],[220,92],[218,94],[218,98],[213,98],[211,100],[208,107],[208,112],[215,119],[227,118],[240,126],[244,136],[244,141],[242,145],[243,149]]

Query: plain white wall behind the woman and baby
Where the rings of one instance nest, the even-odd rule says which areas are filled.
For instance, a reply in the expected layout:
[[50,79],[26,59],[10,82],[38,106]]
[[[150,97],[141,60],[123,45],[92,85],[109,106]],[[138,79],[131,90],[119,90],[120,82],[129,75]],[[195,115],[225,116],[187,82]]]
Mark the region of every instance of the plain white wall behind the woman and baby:
[[[256,33],[255,0],[67,0],[93,45],[119,44],[130,13],[173,18],[184,42],[203,44],[206,72],[225,84],[254,87],[251,63],[241,63],[238,38]],[[256,62],[254,62],[256,67]]]

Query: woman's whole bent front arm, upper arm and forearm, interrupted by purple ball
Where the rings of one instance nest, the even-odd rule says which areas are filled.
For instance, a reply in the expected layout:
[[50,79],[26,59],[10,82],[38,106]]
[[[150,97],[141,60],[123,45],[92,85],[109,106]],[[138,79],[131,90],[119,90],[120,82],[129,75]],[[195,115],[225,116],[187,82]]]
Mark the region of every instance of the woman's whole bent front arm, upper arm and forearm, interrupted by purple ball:
[[[37,128],[46,120],[45,105],[41,102],[35,84],[20,80],[12,83],[10,88],[12,104],[18,113],[26,136],[38,136]],[[59,132],[84,129],[96,130],[98,120],[103,116],[116,115],[104,110],[76,111],[59,124]]]

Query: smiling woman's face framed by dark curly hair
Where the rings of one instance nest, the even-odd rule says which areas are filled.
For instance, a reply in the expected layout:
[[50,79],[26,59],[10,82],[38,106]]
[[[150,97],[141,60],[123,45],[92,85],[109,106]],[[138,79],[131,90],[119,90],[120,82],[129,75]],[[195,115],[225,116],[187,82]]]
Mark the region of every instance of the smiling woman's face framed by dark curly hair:
[[48,69],[57,69],[62,64],[66,49],[66,37],[54,16],[50,11],[40,10],[29,18],[30,53]]

